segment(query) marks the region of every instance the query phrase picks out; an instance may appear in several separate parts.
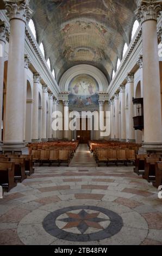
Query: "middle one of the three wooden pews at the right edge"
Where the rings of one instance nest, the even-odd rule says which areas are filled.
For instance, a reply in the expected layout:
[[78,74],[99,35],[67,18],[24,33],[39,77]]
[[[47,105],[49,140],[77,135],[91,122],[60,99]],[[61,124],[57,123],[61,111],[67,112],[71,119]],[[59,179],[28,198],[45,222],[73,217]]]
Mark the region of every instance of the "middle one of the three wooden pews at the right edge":
[[145,172],[143,178],[148,182],[155,179],[155,162],[159,162],[159,157],[146,157],[145,159]]

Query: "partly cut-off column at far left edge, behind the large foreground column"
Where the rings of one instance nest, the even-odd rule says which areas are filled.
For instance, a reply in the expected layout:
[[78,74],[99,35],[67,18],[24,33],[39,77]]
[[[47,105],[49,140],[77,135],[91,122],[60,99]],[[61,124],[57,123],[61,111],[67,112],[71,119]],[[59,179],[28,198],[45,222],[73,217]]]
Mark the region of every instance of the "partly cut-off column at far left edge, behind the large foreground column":
[[4,80],[4,50],[8,35],[5,22],[0,22],[0,144],[2,143],[2,109],[3,109],[3,80]]

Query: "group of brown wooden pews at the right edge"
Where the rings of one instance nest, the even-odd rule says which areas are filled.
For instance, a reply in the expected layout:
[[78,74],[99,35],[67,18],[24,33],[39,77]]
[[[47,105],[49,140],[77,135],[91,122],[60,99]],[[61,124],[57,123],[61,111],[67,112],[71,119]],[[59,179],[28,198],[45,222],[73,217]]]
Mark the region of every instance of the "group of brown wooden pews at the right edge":
[[134,172],[159,187],[162,184],[162,155],[136,155]]

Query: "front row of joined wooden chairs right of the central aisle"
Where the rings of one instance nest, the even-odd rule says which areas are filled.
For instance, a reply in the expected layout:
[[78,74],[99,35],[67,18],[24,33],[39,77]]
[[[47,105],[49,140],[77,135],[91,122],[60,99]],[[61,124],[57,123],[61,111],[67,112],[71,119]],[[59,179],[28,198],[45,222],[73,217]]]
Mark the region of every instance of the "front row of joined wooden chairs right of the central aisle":
[[96,155],[96,162],[98,166],[101,163],[114,163],[116,166],[119,163],[134,163],[135,162],[135,150],[129,149],[99,149]]

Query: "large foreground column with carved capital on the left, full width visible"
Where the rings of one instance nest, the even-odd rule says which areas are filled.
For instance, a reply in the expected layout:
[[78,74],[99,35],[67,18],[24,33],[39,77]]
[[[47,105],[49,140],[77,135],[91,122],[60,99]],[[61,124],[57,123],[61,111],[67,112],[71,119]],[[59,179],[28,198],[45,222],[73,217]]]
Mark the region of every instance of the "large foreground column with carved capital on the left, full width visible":
[[27,0],[5,1],[10,19],[5,136],[3,148],[21,149],[23,144],[24,42],[31,10]]

